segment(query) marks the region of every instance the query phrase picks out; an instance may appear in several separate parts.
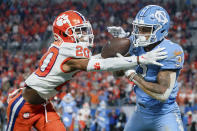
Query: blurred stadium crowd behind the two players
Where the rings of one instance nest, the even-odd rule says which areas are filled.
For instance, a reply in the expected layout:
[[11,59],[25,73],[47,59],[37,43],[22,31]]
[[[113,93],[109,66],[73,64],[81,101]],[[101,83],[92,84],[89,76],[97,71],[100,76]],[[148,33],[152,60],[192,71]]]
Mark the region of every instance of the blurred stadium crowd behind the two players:
[[[147,4],[159,4],[169,12],[171,17],[169,39],[179,43],[184,49],[185,63],[178,78],[180,89],[177,102],[182,112],[185,130],[194,131],[197,122],[197,56],[194,49],[197,43],[193,41],[195,34],[191,33],[191,30],[197,32],[193,27],[193,23],[197,22],[197,6],[186,4],[181,11],[178,11],[174,2],[143,3],[138,0],[134,3],[122,3],[121,6],[117,2],[97,1],[94,2],[94,7],[88,6],[86,2],[72,1],[54,3],[52,0],[45,0],[34,3],[21,0],[12,3],[4,0],[1,2],[0,129],[6,123],[8,92],[22,88],[24,80],[37,68],[38,61],[46,52],[46,48],[42,50],[34,50],[34,48],[44,47],[43,41],[50,39],[52,22],[60,12],[69,9],[77,10],[90,20],[95,34],[95,47],[92,51],[96,54],[112,37],[106,31],[107,26],[122,26],[126,31],[131,31],[133,18],[139,9]],[[80,128],[122,130],[127,114],[120,107],[135,105],[136,98],[132,87],[133,83],[125,77],[114,78],[109,72],[80,72],[62,89],[53,102],[60,114],[70,112],[67,114],[70,119],[74,118],[71,114],[78,115],[77,122],[80,123]],[[72,108],[69,105],[64,110],[62,105],[68,102],[67,96],[72,98],[74,104],[71,104]],[[83,114],[80,110],[83,108],[90,109],[86,118],[91,121],[81,122],[81,119],[85,119],[80,118],[80,114]],[[64,115],[61,116],[63,121],[70,120],[64,118]],[[105,121],[109,121],[107,125],[102,124],[101,116],[104,116]],[[69,128],[74,128],[76,126],[74,123],[70,124],[72,127]]]

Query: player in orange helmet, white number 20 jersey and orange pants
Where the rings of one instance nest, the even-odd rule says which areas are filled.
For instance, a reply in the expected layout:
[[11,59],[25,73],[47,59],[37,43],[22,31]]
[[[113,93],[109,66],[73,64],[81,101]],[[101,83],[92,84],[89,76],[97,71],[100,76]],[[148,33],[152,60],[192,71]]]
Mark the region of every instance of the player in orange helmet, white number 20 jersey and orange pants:
[[29,131],[32,126],[39,131],[65,131],[49,99],[80,70],[124,70],[138,63],[161,66],[157,60],[166,58],[164,48],[142,56],[107,59],[92,56],[88,48],[93,45],[92,27],[77,11],[61,13],[53,23],[53,34],[55,42],[41,58],[38,69],[9,100],[7,131]]

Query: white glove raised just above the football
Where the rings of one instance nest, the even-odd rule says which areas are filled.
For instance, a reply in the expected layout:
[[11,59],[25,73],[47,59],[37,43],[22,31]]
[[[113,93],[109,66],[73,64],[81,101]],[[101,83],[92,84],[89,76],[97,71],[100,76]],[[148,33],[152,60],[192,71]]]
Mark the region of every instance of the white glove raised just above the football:
[[130,32],[125,32],[120,26],[109,26],[107,27],[107,31],[116,38],[126,38],[130,34]]

